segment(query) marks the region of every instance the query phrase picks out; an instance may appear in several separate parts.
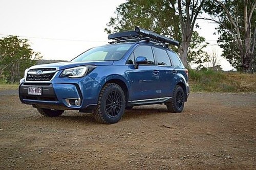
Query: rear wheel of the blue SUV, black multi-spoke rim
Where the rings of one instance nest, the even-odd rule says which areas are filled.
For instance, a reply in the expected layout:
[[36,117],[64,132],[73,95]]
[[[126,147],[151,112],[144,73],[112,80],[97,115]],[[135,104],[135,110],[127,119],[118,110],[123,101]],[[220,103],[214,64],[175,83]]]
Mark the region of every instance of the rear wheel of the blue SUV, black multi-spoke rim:
[[172,113],[182,112],[185,104],[185,93],[181,86],[177,85],[174,88],[172,101],[166,103],[167,110]]

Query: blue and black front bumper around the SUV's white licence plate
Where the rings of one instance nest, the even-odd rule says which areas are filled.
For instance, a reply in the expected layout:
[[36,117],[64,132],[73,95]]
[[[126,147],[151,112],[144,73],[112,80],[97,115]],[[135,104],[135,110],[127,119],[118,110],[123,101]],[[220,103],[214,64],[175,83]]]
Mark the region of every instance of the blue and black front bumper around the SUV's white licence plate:
[[[41,87],[41,95],[28,94],[29,87]],[[57,110],[84,110],[97,106],[100,84],[89,76],[83,79],[57,79],[50,83],[21,81],[19,99],[37,108]],[[73,101],[76,102],[75,105]]]

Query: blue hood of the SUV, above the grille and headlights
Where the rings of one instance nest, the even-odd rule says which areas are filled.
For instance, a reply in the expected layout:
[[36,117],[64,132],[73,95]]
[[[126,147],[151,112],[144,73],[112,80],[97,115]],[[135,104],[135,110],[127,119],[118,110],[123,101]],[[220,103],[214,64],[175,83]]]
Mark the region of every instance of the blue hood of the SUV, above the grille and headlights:
[[60,63],[50,63],[50,64],[40,64],[34,65],[29,69],[34,68],[57,68],[57,70],[78,67],[83,65],[112,65],[114,61],[82,61],[82,62],[60,62]]

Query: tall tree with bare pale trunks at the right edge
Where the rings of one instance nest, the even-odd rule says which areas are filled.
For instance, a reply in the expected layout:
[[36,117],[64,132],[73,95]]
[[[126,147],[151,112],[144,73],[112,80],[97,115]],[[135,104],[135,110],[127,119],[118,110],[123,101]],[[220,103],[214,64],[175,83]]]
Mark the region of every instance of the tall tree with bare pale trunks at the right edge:
[[219,24],[218,42],[223,57],[232,66],[244,72],[252,72],[255,66],[256,0],[208,1],[205,11]]

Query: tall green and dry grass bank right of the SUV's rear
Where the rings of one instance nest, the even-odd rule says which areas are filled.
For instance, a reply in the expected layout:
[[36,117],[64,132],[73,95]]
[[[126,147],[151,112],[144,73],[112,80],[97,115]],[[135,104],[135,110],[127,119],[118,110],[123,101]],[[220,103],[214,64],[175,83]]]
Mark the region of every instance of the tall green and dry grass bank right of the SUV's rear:
[[256,92],[256,75],[214,70],[189,70],[194,92]]

